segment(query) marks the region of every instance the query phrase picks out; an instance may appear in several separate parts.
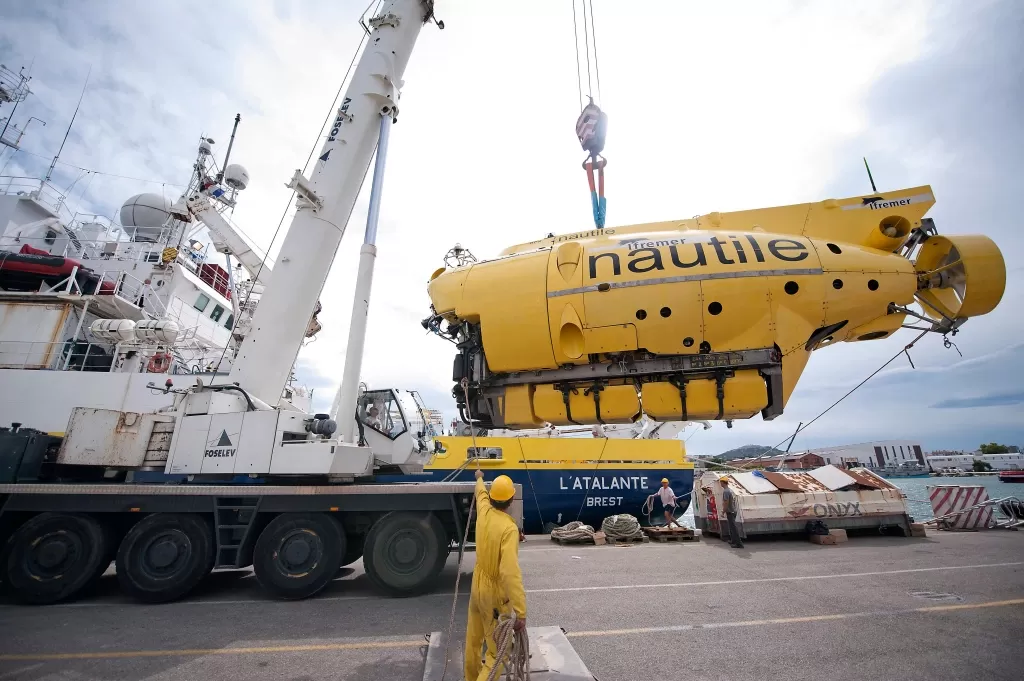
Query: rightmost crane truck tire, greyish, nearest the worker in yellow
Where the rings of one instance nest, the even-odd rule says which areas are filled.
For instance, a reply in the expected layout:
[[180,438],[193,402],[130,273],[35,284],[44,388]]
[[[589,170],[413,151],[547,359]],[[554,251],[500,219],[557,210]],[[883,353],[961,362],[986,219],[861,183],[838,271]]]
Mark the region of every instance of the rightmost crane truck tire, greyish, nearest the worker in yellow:
[[384,594],[418,596],[433,588],[447,556],[447,533],[436,515],[393,511],[370,527],[362,565]]

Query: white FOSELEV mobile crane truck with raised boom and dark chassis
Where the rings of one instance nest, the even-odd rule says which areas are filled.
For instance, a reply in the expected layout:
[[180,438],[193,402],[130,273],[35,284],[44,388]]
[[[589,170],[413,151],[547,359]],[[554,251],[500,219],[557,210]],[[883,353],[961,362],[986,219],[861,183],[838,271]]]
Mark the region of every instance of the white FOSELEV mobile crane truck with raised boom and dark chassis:
[[[83,405],[62,438],[31,423],[0,433],[0,479],[10,481],[0,484],[0,581],[13,598],[72,598],[112,560],[122,589],[147,602],[184,596],[213,568],[249,565],[273,595],[305,598],[360,556],[389,595],[431,588],[463,537],[472,484],[374,482],[381,471],[421,470],[430,454],[416,393],[360,391],[358,338],[346,358],[355,366],[345,372],[339,436],[328,415],[279,403],[375,148],[367,231],[376,233],[402,73],[432,19],[433,2],[421,0],[388,3],[371,19],[312,173],[296,171],[289,184],[297,211],[226,380],[168,379],[154,387],[173,406],[156,413]],[[193,199],[184,210],[194,215],[179,219],[208,212]],[[375,254],[370,239],[357,289],[367,295],[353,306],[359,333]],[[387,407],[386,431],[356,422],[356,406],[370,403]],[[187,477],[134,482],[140,471]],[[232,483],[240,477],[253,483]]]

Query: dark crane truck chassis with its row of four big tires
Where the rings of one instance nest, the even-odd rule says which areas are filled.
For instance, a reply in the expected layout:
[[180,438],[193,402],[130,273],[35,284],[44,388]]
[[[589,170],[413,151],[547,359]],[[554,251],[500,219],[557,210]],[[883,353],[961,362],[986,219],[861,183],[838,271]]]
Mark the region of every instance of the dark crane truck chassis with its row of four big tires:
[[388,596],[429,591],[461,542],[466,482],[325,485],[0,484],[0,582],[27,603],[81,593],[111,562],[130,596],[185,596],[213,569],[252,566],[285,599],[364,560]]

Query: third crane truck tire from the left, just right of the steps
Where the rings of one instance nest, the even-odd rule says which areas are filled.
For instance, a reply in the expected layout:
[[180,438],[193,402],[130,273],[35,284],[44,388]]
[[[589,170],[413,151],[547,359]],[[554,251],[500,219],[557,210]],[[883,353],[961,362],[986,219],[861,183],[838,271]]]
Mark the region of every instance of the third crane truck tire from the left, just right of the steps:
[[282,513],[260,533],[253,570],[260,586],[278,598],[308,598],[341,567],[345,533],[326,513]]

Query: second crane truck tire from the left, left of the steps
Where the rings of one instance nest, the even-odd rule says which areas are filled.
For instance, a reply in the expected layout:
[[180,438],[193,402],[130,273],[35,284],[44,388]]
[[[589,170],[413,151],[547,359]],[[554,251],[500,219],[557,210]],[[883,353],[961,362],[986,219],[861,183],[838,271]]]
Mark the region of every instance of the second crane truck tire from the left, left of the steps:
[[194,513],[154,513],[128,530],[118,549],[121,589],[136,600],[181,598],[213,569],[213,529]]

